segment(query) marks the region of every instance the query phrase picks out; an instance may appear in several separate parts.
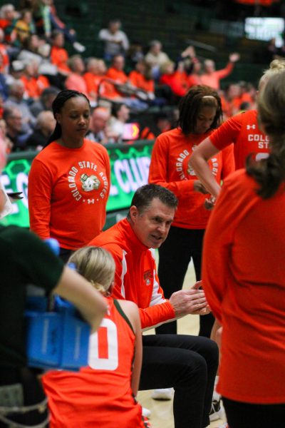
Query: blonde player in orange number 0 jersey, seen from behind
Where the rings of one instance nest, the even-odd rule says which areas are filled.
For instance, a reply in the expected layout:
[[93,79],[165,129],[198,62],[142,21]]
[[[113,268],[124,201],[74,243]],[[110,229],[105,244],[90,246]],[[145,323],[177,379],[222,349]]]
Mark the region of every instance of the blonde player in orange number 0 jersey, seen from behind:
[[108,302],[108,312],[89,341],[88,366],[43,376],[51,428],[149,427],[136,402],[142,364],[138,307],[110,297],[115,263],[107,250],[86,247],[69,260]]

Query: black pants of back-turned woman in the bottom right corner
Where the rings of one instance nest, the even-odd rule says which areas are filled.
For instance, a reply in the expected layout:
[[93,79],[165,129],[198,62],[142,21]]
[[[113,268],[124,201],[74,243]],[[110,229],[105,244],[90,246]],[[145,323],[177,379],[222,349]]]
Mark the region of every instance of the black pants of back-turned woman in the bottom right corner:
[[250,404],[224,397],[222,400],[229,428],[285,427],[285,404]]

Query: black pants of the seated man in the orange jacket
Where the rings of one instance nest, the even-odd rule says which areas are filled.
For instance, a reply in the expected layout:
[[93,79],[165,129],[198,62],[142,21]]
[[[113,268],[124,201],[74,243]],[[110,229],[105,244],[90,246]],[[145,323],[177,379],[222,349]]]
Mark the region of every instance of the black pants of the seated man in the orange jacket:
[[175,428],[204,428],[209,424],[219,353],[206,337],[142,336],[142,389],[175,389]]

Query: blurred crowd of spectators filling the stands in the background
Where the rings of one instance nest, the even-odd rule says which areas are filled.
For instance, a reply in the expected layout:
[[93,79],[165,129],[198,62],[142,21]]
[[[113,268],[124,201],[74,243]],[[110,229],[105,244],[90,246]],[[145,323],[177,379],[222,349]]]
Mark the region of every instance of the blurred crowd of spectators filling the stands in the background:
[[[64,88],[86,94],[93,108],[88,138],[99,143],[133,142],[125,123],[156,108],[142,121],[136,138],[154,139],[175,127],[177,103],[188,89],[207,84],[219,91],[224,117],[254,107],[256,91],[246,82],[219,80],[228,76],[238,54],[222,70],[202,61],[188,46],[172,61],[158,40],[130,44],[118,19],[101,29],[103,58],[84,57],[85,46],[58,17],[53,0],[20,1],[17,9],[0,9],[0,126],[7,152],[40,150],[55,125],[51,104]],[[69,56],[65,44],[71,44]],[[155,120],[154,120],[155,117]]]

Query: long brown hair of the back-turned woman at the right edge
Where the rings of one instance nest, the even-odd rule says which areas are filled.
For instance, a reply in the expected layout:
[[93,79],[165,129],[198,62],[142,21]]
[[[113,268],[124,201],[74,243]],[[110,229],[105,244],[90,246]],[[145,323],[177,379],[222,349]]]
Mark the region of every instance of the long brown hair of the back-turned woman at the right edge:
[[269,157],[247,158],[247,173],[259,184],[257,194],[271,198],[285,181],[285,71],[272,75],[259,94],[259,121],[269,136]]

